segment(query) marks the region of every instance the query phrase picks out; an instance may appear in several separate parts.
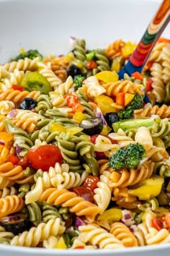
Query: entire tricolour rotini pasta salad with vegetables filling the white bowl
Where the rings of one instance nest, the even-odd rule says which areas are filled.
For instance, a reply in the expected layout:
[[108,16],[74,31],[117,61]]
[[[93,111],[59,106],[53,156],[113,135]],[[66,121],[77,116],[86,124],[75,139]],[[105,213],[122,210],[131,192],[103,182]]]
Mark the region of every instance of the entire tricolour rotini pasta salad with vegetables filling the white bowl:
[[119,249],[170,242],[170,40],[21,49],[0,65],[0,243]]

